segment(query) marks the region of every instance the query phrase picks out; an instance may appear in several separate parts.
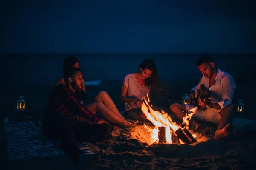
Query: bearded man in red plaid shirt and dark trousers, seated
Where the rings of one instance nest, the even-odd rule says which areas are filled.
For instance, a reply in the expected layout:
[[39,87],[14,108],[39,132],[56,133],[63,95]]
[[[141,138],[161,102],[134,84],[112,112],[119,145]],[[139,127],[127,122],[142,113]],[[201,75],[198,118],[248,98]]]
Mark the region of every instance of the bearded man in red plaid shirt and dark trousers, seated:
[[[67,85],[60,84],[51,92],[46,112],[44,113],[44,134],[52,140],[60,140],[61,147],[79,163],[87,159],[77,147],[76,141],[99,142],[111,136],[112,126],[106,121],[99,120],[84,105],[81,105],[74,91],[81,90],[83,78],[79,68],[73,68],[64,73]],[[87,121],[77,121],[80,116]]]

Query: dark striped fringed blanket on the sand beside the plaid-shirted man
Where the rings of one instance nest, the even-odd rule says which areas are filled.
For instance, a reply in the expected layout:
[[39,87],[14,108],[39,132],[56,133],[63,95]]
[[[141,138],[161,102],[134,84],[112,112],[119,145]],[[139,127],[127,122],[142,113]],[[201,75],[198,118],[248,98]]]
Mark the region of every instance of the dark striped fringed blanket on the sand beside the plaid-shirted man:
[[[4,130],[10,161],[65,155],[63,150],[56,147],[57,143],[44,136],[42,126],[36,126],[34,122],[5,122]],[[78,144],[78,147],[84,153],[93,154],[87,142]]]

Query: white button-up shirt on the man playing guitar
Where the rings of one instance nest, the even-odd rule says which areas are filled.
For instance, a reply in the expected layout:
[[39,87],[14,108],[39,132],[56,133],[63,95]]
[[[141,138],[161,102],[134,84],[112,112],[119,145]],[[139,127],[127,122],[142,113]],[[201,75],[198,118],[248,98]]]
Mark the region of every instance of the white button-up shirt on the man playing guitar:
[[218,103],[221,108],[232,103],[233,94],[236,88],[233,77],[225,71],[221,71],[218,68],[218,73],[215,77],[216,83],[209,88],[209,78],[203,77],[197,86],[192,88],[195,91],[195,97],[197,97],[200,85],[205,85],[205,88],[211,91],[210,95],[213,103]]

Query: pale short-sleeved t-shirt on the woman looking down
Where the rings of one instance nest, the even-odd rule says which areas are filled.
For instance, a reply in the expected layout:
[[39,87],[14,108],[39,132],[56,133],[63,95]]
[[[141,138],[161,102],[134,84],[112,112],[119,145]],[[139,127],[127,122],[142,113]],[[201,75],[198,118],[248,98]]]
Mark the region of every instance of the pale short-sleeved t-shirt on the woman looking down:
[[[128,74],[125,76],[123,81],[124,85],[128,88],[126,96],[137,97],[142,100],[143,97],[147,98],[147,93],[149,88],[144,85],[139,85],[135,78],[135,73]],[[128,111],[133,108],[140,108],[135,103],[125,103],[125,111]]]

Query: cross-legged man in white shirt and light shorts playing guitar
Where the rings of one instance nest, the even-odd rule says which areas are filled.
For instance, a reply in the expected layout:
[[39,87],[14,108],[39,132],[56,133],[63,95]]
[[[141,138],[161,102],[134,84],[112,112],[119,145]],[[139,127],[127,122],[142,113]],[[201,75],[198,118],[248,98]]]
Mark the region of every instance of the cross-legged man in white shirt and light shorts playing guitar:
[[[232,98],[236,88],[234,79],[227,72],[215,67],[215,63],[209,55],[202,55],[197,61],[197,66],[203,77],[198,85],[192,88],[189,94],[189,101],[195,104],[198,90],[201,85],[204,85],[205,89],[210,92],[211,103],[206,107],[199,97],[198,109],[192,116],[190,124],[195,126],[196,130],[200,130],[205,127],[200,125],[197,120],[214,122],[218,124],[214,138],[224,139],[229,136],[232,130],[231,123],[234,113]],[[191,109],[195,107],[197,106],[174,103],[170,106],[170,109],[178,119],[183,120],[183,117],[186,116],[186,111],[192,113]]]

